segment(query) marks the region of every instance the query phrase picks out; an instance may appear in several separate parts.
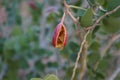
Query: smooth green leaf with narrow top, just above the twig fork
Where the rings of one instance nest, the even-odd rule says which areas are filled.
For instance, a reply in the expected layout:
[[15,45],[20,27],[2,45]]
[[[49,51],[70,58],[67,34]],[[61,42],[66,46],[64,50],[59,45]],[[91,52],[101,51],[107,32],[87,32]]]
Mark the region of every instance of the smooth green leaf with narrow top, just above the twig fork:
[[86,13],[81,17],[81,26],[89,27],[93,23],[93,12],[92,9],[89,8]]

